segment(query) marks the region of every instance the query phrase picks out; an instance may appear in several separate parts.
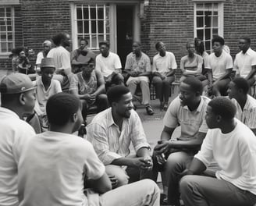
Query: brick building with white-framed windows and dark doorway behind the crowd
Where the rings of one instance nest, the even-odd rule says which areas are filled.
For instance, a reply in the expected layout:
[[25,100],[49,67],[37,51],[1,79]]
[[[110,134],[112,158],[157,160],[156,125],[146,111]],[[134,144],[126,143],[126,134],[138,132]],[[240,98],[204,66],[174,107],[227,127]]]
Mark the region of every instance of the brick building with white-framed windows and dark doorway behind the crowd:
[[71,49],[80,37],[95,51],[107,39],[123,64],[132,41],[141,41],[151,58],[155,43],[164,41],[179,65],[187,41],[200,37],[210,52],[214,34],[225,38],[234,57],[241,36],[251,37],[256,49],[255,10],[255,0],[1,0],[0,69],[10,69],[13,47],[25,45],[37,53],[44,40],[62,30],[72,36]]

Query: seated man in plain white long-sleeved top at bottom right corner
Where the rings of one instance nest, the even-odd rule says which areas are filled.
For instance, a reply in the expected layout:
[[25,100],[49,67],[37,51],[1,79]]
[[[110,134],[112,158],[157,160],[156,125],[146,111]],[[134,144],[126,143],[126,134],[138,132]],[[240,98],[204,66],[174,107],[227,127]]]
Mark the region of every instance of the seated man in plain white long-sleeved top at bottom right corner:
[[[250,206],[256,203],[256,137],[238,119],[228,98],[209,102],[205,115],[208,133],[199,151],[180,176],[186,206]],[[201,176],[212,159],[215,176]],[[185,176],[186,175],[186,176]]]

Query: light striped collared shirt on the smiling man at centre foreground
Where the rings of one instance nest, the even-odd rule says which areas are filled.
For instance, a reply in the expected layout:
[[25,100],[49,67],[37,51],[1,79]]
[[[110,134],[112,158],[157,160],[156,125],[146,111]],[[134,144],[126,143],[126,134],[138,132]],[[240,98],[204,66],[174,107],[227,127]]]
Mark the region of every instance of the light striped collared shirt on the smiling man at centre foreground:
[[112,108],[98,113],[87,126],[87,140],[91,141],[98,157],[105,165],[130,154],[130,142],[136,152],[141,147],[149,147],[140,117],[134,110],[129,119],[123,119],[121,131],[114,123]]

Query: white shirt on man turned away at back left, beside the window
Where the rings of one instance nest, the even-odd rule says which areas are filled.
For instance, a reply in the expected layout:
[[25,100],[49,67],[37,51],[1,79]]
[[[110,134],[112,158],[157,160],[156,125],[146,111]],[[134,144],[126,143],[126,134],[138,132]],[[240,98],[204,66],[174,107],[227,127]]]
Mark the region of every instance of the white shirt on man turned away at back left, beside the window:
[[48,52],[47,57],[54,59],[57,74],[66,69],[71,71],[70,54],[66,48],[63,48],[62,46],[52,48],[50,52]]

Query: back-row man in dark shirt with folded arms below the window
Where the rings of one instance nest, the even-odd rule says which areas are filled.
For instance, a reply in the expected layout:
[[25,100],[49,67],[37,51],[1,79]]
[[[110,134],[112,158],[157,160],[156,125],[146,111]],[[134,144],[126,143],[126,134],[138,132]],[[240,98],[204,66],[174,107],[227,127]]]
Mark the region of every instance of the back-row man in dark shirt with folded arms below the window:
[[96,55],[87,49],[88,41],[80,40],[80,47],[71,52],[71,66],[73,73],[81,72],[81,66],[87,64],[91,59],[95,59]]

